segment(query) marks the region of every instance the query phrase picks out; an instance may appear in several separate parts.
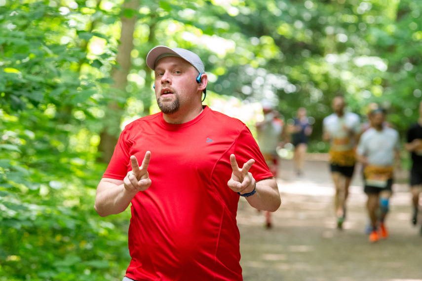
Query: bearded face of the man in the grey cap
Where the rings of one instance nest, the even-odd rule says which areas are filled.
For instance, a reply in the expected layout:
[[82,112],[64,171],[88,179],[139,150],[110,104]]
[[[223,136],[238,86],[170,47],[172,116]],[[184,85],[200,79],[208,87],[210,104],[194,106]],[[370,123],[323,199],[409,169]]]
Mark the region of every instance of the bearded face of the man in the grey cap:
[[155,66],[155,98],[160,110],[173,114],[189,110],[199,98],[196,76],[198,71],[179,57],[164,57]]

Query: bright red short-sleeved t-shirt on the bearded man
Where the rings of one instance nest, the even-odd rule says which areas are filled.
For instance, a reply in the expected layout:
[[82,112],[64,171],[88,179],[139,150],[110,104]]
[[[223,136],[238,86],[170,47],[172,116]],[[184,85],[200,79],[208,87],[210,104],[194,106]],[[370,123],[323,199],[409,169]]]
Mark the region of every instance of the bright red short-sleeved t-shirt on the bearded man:
[[137,280],[242,280],[236,212],[239,195],[227,182],[230,154],[249,159],[258,181],[271,175],[249,129],[205,106],[184,124],[162,113],[135,120],[120,135],[103,177],[123,179],[129,157],[151,151],[151,186],[132,200],[126,276]]

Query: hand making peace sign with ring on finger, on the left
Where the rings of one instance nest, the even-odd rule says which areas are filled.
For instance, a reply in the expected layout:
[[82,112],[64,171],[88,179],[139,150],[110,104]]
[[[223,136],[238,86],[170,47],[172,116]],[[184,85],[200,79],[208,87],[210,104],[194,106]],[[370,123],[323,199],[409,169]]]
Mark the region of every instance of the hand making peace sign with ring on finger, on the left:
[[148,175],[148,165],[150,165],[151,152],[145,153],[144,160],[142,160],[141,167],[139,167],[138,160],[134,155],[130,156],[132,164],[132,171],[127,173],[123,179],[123,186],[127,191],[145,191],[151,185],[151,179]]

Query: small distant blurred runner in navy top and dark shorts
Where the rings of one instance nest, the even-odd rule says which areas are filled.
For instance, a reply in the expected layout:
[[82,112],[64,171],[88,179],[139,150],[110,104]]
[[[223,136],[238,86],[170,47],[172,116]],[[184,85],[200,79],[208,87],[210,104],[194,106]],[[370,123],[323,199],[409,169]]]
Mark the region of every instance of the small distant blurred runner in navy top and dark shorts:
[[298,109],[298,116],[293,121],[294,123],[290,130],[290,133],[292,134],[292,144],[295,147],[293,162],[295,163],[296,175],[302,176],[308,137],[312,133],[312,126],[309,124],[305,107],[300,107]]

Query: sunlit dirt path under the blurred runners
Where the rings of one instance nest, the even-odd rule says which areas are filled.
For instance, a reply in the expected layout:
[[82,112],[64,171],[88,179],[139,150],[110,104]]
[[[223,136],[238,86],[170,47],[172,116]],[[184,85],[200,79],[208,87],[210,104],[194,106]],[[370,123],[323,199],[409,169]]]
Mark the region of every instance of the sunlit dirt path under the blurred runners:
[[290,160],[281,162],[282,206],[272,214],[272,229],[264,229],[263,213],[239,202],[245,281],[422,281],[421,226],[410,224],[404,178],[393,186],[386,221],[390,237],[371,244],[364,233],[368,215],[359,173],[350,187],[345,229],[339,231],[327,162],[307,161],[303,177],[295,176],[292,166]]

